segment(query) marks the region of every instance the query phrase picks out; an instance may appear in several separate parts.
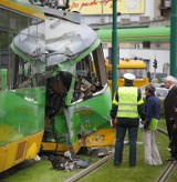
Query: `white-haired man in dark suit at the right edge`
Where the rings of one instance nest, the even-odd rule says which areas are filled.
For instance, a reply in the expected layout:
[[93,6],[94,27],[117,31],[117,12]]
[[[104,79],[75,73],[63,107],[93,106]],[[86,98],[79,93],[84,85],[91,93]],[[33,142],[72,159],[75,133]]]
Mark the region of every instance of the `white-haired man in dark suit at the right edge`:
[[[176,79],[171,75],[165,78],[165,87],[169,90],[166,99],[164,100],[164,110],[165,110],[165,119],[166,127],[169,138],[169,150],[171,151],[173,135],[176,129],[175,124],[175,108],[177,105],[177,87],[175,85]],[[177,130],[177,129],[176,129]],[[174,149],[174,148],[173,148]],[[174,152],[171,151],[171,156],[169,160],[175,160]]]

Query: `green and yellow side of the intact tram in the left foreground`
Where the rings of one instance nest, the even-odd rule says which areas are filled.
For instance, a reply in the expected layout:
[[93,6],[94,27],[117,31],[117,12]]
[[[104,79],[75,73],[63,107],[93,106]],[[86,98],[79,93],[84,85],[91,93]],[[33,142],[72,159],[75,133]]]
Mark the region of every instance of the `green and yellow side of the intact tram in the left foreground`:
[[[39,84],[33,77],[39,69],[27,61],[29,57],[17,55],[10,48],[13,38],[39,19],[14,12],[7,6],[31,13],[22,3],[0,2],[0,172],[38,154],[44,131],[45,103],[44,83]],[[38,37],[38,30],[34,36]],[[28,38],[28,34],[21,37]]]

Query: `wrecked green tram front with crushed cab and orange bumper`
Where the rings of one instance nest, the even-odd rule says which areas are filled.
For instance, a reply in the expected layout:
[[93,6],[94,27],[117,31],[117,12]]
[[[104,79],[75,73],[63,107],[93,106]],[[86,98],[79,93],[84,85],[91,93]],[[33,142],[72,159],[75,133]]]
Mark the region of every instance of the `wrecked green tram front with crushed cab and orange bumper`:
[[46,80],[46,100],[41,151],[72,148],[76,153],[81,146],[114,143],[112,97],[100,39],[79,22],[80,14],[72,20],[67,17],[71,14],[45,20],[45,72],[40,77]]

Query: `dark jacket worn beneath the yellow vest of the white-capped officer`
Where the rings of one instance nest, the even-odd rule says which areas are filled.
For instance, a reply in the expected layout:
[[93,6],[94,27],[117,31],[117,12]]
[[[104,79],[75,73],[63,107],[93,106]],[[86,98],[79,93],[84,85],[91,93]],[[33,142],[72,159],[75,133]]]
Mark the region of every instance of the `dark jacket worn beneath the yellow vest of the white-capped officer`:
[[[133,87],[132,82],[126,82],[124,87]],[[137,101],[142,99],[142,91],[140,89],[137,89]],[[118,102],[118,90],[115,93],[115,99]],[[115,105],[114,103],[112,104],[112,110],[110,112],[110,115],[112,119],[116,118],[118,105]],[[146,119],[145,110],[144,110],[144,103],[137,105],[138,114],[140,115],[142,120]],[[134,119],[134,118],[117,118],[117,125],[122,127],[138,127],[139,125],[139,119]]]

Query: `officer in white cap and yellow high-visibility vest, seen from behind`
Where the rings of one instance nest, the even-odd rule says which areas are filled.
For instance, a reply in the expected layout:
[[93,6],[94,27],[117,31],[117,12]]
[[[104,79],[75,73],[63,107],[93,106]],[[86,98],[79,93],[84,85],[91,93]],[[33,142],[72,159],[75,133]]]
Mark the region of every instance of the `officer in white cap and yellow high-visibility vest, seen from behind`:
[[144,121],[146,113],[140,89],[133,85],[135,75],[125,73],[125,84],[118,88],[113,98],[111,110],[112,122],[116,125],[116,142],[114,152],[114,165],[119,166],[123,160],[124,139],[128,130],[129,166],[136,165],[136,141],[139,125],[139,117]]

